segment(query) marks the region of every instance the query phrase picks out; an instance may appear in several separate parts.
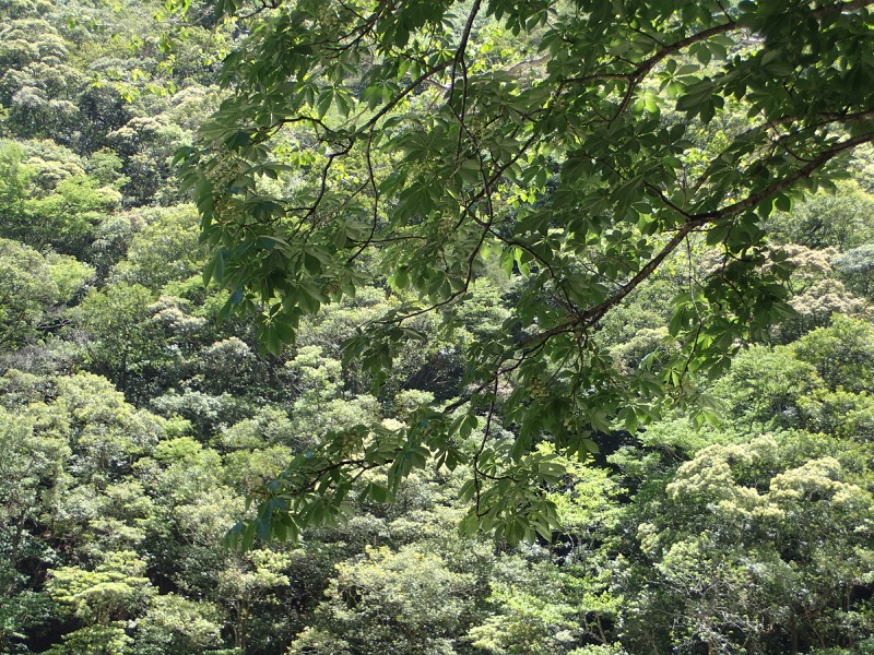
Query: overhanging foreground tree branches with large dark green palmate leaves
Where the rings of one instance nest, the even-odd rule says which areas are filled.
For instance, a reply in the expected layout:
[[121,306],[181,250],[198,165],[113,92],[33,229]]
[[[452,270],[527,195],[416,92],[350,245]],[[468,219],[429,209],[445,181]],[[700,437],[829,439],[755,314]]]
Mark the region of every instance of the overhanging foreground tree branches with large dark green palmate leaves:
[[[793,314],[764,224],[874,140],[869,4],[217,2],[246,36],[177,156],[204,278],[268,352],[385,275],[399,301],[343,345],[378,388],[422,317],[451,334],[480,281],[520,278],[459,393],[296,458],[244,540],[333,521],[371,468],[373,498],[392,497],[429,456],[472,463],[470,529],[548,537],[562,469],[539,444],[595,452],[677,401],[710,417],[696,380]],[[666,267],[688,274],[663,347],[617,369],[603,325]]]

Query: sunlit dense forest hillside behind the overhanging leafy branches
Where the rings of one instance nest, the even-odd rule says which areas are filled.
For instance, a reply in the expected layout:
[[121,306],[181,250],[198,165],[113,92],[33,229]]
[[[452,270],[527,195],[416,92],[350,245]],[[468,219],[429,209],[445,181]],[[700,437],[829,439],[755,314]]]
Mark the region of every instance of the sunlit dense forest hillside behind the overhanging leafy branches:
[[[426,466],[391,503],[363,476],[297,544],[223,547],[328,430],[453,398],[520,278],[487,270],[452,333],[423,314],[378,392],[340,345],[397,281],[261,349],[203,284],[170,165],[239,36],[194,4],[0,1],[0,653],[874,653],[870,147],[769,219],[794,312],[700,381],[707,412],[556,460],[552,540],[460,536],[463,466]],[[606,320],[617,369],[671,347],[670,299],[712,265],[686,254]]]

